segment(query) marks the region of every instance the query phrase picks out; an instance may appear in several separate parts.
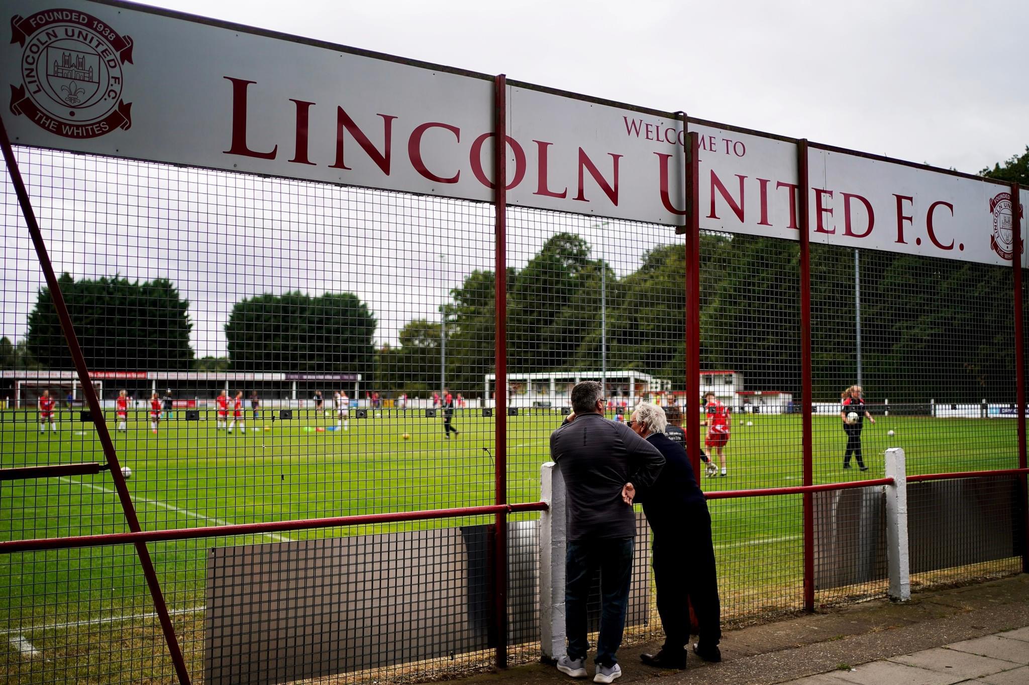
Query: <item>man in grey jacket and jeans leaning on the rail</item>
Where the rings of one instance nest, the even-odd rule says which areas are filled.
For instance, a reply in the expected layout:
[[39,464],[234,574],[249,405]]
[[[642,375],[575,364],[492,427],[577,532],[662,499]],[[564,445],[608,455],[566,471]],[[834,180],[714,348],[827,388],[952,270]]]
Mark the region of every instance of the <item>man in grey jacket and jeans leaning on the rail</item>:
[[587,601],[600,571],[600,636],[595,683],[622,676],[615,656],[622,645],[632,579],[636,517],[623,499],[627,483],[653,484],[665,458],[633,430],[604,418],[600,383],[572,388],[572,414],[551,433],[551,458],[561,468],[567,492],[568,549],[565,579],[565,631],[568,653],[558,671],[584,678]]

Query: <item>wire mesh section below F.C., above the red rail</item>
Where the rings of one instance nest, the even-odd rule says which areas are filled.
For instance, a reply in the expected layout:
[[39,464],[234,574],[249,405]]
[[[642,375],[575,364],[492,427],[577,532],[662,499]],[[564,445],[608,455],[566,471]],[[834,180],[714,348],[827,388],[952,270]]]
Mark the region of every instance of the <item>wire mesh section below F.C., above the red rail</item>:
[[818,245],[812,282],[820,478],[1018,466],[1010,269]]

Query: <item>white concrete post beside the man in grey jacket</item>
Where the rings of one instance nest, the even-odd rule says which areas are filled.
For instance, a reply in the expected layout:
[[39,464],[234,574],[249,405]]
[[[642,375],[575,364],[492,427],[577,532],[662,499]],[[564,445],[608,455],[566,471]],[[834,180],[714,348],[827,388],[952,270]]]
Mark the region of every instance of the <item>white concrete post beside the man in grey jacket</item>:
[[553,461],[539,468],[541,497],[547,509],[539,515],[539,625],[543,657],[557,659],[565,643],[565,479]]

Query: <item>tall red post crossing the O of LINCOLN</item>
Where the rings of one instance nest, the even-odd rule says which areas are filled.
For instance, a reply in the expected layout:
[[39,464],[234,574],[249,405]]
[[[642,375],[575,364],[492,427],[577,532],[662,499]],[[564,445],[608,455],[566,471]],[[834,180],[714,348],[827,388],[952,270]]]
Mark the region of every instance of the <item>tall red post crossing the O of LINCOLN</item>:
[[[495,80],[495,131],[493,139],[495,251],[494,303],[496,310],[496,503],[507,503],[507,77]],[[507,667],[507,515],[496,515],[493,536],[493,614],[497,636],[497,668]]]

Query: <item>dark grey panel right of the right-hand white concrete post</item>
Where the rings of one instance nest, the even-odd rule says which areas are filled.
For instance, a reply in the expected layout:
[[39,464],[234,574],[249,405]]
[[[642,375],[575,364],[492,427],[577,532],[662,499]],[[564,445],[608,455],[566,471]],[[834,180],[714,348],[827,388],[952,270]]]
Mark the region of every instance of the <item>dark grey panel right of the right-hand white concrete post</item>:
[[911,572],[1019,556],[1018,497],[1015,478],[909,484]]

